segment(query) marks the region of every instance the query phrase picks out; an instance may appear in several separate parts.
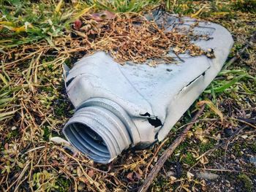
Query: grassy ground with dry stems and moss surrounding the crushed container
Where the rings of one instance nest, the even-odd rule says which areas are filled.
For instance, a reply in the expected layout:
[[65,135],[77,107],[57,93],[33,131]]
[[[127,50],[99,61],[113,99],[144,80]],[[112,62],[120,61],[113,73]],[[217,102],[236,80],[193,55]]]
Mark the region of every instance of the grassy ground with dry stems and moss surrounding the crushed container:
[[[70,26],[92,4],[0,2],[0,191],[136,191],[189,123],[196,102],[164,145],[125,151],[108,165],[70,153],[50,138],[62,137],[61,128],[73,113],[64,91],[62,64],[73,64],[85,53],[70,37]],[[140,12],[160,3],[120,2],[124,1],[106,6],[98,2],[89,11]],[[170,12],[225,26],[235,40],[230,58],[250,42],[200,96],[203,101],[210,98],[218,111],[206,107],[150,190],[256,191],[256,46],[251,38],[256,26],[255,1],[162,4]],[[216,112],[222,113],[223,122]]]

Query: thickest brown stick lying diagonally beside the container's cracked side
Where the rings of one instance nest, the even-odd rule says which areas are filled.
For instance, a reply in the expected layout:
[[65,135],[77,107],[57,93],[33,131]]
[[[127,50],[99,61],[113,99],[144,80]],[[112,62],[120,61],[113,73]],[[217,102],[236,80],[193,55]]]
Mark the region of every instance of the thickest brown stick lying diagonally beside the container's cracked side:
[[[192,122],[195,122],[197,120],[197,118],[199,118],[199,116],[203,113],[203,110],[205,108],[205,105],[203,105],[200,110],[195,114],[195,116],[192,118]],[[146,178],[145,182],[143,183],[143,185],[140,186],[140,188],[138,189],[138,192],[146,192],[149,188],[149,186],[151,185],[151,183],[153,182],[154,178],[157,176],[157,174],[159,173],[160,169],[162,168],[162,166],[165,164],[165,161],[167,160],[167,158],[170,157],[170,155],[173,154],[173,151],[176,150],[176,147],[178,147],[178,145],[181,144],[181,142],[184,141],[184,139],[187,136],[187,132],[189,131],[190,128],[192,128],[193,124],[189,124],[184,131],[181,132],[181,134],[179,135],[179,137],[177,137],[177,139],[175,139],[175,141],[173,142],[172,145],[170,145],[167,150],[165,150],[165,153],[159,158],[159,160],[157,161],[157,164],[154,166],[154,168],[151,170],[151,172],[148,174],[148,177]]]

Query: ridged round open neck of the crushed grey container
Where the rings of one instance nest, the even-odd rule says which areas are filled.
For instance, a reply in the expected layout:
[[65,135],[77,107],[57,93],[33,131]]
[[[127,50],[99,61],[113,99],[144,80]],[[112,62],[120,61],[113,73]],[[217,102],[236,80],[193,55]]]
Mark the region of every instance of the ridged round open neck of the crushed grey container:
[[63,131],[74,147],[101,164],[108,164],[131,144],[121,120],[101,107],[78,110]]

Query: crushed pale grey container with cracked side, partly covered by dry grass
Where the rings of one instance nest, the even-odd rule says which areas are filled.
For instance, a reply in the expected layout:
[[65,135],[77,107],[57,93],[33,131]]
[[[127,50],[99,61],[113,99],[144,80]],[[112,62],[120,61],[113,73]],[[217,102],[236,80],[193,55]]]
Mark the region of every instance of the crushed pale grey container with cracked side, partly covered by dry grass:
[[[159,23],[163,22],[161,19]],[[167,16],[168,30],[195,23],[190,18]],[[98,52],[82,58],[67,72],[67,94],[75,115],[64,134],[75,147],[94,161],[106,164],[130,146],[146,147],[161,141],[206,89],[230,53],[230,33],[214,23],[199,22],[196,34],[203,50],[214,49],[216,58],[179,55],[179,64],[127,62],[120,65]],[[170,51],[170,55],[176,58]]]

